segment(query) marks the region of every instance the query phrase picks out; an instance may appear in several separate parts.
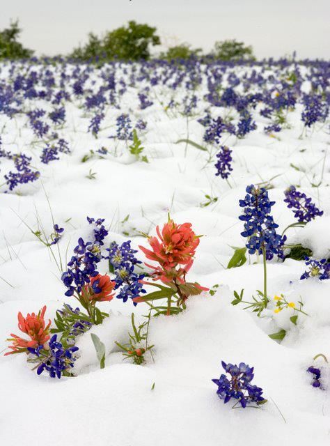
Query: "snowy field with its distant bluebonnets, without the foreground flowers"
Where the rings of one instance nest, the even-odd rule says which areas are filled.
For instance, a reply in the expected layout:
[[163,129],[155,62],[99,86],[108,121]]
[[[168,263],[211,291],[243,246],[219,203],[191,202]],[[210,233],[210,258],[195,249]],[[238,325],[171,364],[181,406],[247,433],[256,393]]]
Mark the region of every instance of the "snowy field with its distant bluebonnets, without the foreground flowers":
[[[285,190],[294,185],[311,197],[324,214],[304,227],[288,229],[285,245],[301,244],[313,259],[329,258],[327,82],[325,63],[193,63],[181,69],[164,63],[0,66],[2,445],[329,445],[330,366],[323,357],[313,361],[319,353],[330,360],[329,280],[301,280],[308,270],[304,260],[274,256],[267,261],[269,302],[258,317],[244,310],[244,304],[231,302],[234,291],[244,289],[244,300],[250,301],[263,289],[262,256],[246,254],[244,265],[227,268],[233,247],[247,242],[238,217],[248,185],[266,187],[276,202],[271,213],[280,235],[297,222],[283,201]],[[138,93],[145,97],[139,99]],[[260,114],[265,108],[270,112]],[[37,109],[45,113],[37,116]],[[62,116],[58,123],[49,116],[54,110]],[[319,113],[310,126],[301,120],[306,110]],[[131,121],[126,134],[120,125],[127,115],[116,121],[122,114]],[[198,122],[207,114],[209,121]],[[95,116],[100,129],[88,130]],[[205,141],[210,120],[219,116],[222,121],[213,121],[217,136]],[[239,133],[239,122],[248,128],[246,134]],[[127,139],[136,123],[140,154],[130,153],[132,140]],[[276,124],[280,131],[264,130]],[[69,149],[54,155],[50,148],[58,139],[65,139]],[[178,143],[187,139],[198,146]],[[216,176],[214,167],[224,144],[233,157],[228,180]],[[24,164],[21,158],[25,167],[15,170],[15,154],[20,153],[31,160]],[[25,175],[19,177],[24,184],[10,190],[10,171]],[[34,180],[25,183],[31,172]],[[219,286],[213,295],[191,295],[187,309],[178,315],[150,318],[148,342],[154,347],[146,362],[125,359],[115,341],[127,343],[132,312],[141,323],[148,306],[116,297],[98,304],[110,312],[109,318],[77,337],[75,377],[38,376],[25,353],[3,356],[10,333],[22,334],[18,312],[26,316],[47,305],[48,321],[64,302],[77,306],[73,297],[64,295],[61,275],[78,239],[93,240],[94,226],[87,216],[105,219],[109,233],[103,248],[132,240],[144,262],[139,245],[148,247],[148,239],[143,233],[155,236],[168,213],[177,224],[190,222],[203,236],[189,281],[210,289]],[[47,247],[54,223],[64,231],[58,243]],[[144,272],[152,272],[141,265]],[[97,263],[97,271],[109,274],[106,259]],[[296,309],[274,312],[274,296],[281,294]],[[290,318],[297,315],[293,323]],[[282,340],[269,337],[281,330]],[[104,369],[91,333],[105,345]],[[223,404],[212,383],[224,373],[221,360],[254,367],[253,383],[262,387],[267,403],[258,409],[232,409],[233,400]],[[321,369],[321,387],[311,385],[313,374],[306,370],[312,364]]]

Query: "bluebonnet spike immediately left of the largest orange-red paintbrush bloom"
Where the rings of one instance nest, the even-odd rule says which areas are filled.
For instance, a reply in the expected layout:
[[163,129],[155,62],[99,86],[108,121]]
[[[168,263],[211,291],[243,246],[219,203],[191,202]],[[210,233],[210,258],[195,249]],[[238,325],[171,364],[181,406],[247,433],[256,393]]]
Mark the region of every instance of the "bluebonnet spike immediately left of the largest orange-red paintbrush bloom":
[[[128,240],[120,246],[113,242],[107,250],[109,251],[108,259],[111,272],[116,275],[114,289],[119,289],[116,298],[123,299],[123,302],[126,302],[128,298],[133,299],[141,293],[146,293],[143,290],[143,284],[141,284],[145,275],[134,272],[135,266],[139,265],[141,261],[136,259],[134,254],[137,251],[132,249],[131,241]],[[134,302],[134,305],[137,305],[136,302]]]

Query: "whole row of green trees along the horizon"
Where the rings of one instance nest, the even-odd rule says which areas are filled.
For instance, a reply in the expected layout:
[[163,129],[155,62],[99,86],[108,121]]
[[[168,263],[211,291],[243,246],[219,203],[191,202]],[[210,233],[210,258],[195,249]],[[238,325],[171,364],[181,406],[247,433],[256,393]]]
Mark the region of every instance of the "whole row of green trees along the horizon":
[[[33,56],[33,50],[25,48],[19,42],[21,31],[17,20],[0,31],[0,59],[26,59]],[[140,61],[150,59],[151,47],[157,45],[161,45],[161,40],[155,27],[130,20],[126,26],[107,31],[102,36],[89,33],[87,42],[74,48],[67,56],[81,61]],[[201,48],[191,48],[191,45],[181,43],[154,57],[180,61],[201,56],[212,56],[222,61],[255,59],[252,47],[235,39],[216,42],[209,54],[203,54]]]

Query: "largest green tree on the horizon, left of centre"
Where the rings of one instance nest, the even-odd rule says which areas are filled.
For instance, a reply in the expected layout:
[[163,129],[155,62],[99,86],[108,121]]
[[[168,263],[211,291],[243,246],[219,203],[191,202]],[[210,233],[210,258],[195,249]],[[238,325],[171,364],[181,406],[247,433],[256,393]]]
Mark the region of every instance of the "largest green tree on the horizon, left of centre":
[[88,60],[98,58],[112,61],[139,61],[150,59],[150,45],[160,45],[156,28],[148,24],[138,24],[131,20],[127,26],[108,31],[101,38],[88,34],[88,42],[84,47],[73,50],[74,59]]

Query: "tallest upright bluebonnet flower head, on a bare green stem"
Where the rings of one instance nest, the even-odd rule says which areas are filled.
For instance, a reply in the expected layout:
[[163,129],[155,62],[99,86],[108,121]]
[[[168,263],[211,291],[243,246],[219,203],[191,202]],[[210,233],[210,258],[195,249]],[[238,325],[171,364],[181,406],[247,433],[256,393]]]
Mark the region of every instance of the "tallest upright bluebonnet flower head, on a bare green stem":
[[249,254],[262,254],[266,251],[266,259],[271,260],[276,254],[283,259],[283,244],[286,236],[281,237],[276,233],[278,224],[274,222],[270,215],[271,208],[275,201],[270,201],[268,192],[264,187],[249,185],[246,187],[244,200],[239,200],[239,206],[244,208],[244,214],[239,216],[239,220],[244,223],[243,237],[248,238],[246,247]]

